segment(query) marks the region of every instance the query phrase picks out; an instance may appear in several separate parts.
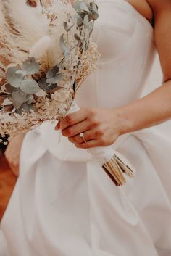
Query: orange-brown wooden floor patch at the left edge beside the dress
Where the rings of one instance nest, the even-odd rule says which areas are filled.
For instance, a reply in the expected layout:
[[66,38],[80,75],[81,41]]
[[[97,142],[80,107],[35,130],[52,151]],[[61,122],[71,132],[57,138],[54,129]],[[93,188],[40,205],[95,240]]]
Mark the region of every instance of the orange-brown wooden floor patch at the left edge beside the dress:
[[0,220],[9,202],[15,182],[16,177],[10,170],[4,154],[0,152]]

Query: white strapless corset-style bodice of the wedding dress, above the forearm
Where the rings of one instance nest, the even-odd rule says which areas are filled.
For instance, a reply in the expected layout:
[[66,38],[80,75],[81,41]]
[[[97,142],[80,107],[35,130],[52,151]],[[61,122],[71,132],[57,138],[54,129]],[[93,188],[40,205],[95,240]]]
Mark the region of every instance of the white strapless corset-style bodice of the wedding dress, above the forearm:
[[99,20],[93,31],[101,59],[80,87],[78,103],[119,107],[141,95],[154,59],[153,28],[125,0],[98,0]]

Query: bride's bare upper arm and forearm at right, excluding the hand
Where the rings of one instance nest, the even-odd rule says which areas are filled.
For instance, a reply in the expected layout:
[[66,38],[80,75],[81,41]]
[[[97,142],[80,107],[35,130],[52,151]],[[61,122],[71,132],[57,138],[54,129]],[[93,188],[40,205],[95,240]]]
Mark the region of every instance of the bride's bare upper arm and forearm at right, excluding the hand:
[[171,1],[149,0],[149,4],[154,10],[154,38],[164,83],[148,96],[119,110],[127,120],[122,133],[156,125],[171,117]]

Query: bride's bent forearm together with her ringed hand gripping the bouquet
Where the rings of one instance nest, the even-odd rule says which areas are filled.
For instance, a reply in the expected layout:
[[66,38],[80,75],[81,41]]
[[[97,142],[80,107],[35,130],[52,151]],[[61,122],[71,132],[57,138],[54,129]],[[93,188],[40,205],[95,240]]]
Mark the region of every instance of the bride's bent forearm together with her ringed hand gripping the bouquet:
[[[63,136],[81,149],[109,146],[118,136],[157,125],[171,118],[171,81],[148,96],[114,109],[86,108],[64,117]],[[85,141],[80,137],[83,133]]]

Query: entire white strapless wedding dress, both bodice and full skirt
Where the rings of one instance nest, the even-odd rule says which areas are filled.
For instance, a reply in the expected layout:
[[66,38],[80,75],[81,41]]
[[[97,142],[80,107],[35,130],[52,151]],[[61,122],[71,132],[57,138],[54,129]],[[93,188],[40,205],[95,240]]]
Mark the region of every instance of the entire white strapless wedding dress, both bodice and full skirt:
[[[146,85],[153,28],[124,0],[97,2],[93,38],[101,60],[78,104],[119,107]],[[20,178],[1,222],[0,256],[170,256],[170,122],[114,143],[137,170],[122,187],[88,152],[61,140],[49,123],[25,137]]]

